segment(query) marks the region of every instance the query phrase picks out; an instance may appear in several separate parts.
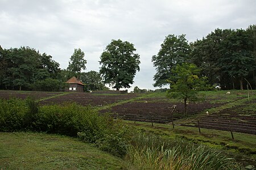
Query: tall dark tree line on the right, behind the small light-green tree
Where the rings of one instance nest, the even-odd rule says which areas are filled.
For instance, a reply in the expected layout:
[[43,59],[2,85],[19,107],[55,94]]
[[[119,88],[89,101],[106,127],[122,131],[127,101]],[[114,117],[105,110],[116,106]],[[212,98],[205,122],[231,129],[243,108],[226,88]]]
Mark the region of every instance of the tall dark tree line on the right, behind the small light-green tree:
[[185,35],[168,35],[152,62],[156,67],[154,86],[169,84],[172,69],[181,63],[193,63],[207,76],[209,84],[224,90],[256,88],[256,25],[247,29],[215,29],[190,44]]

